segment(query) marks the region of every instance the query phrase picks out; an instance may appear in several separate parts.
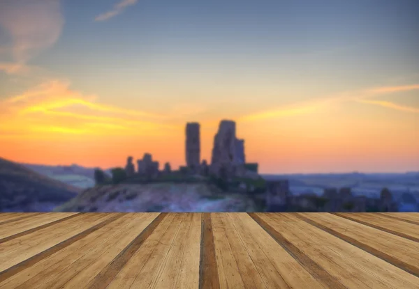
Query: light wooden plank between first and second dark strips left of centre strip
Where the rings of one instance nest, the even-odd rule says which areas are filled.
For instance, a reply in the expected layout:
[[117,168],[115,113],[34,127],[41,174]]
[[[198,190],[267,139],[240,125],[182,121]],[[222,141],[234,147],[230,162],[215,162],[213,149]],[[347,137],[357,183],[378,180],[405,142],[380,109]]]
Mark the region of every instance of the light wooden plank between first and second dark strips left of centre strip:
[[[129,214],[124,223],[114,228],[108,236],[92,240],[79,256],[68,256],[57,265],[38,274],[17,289],[27,288],[80,288],[103,270],[112,260],[133,241],[159,215]],[[92,287],[86,287],[92,288]]]

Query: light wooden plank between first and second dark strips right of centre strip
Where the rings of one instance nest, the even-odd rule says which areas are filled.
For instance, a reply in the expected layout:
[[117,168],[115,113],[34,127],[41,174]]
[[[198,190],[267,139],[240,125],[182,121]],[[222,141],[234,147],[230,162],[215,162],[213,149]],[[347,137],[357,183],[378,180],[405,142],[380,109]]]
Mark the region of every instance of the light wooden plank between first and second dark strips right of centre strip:
[[346,288],[418,288],[418,277],[292,214],[258,215]]

